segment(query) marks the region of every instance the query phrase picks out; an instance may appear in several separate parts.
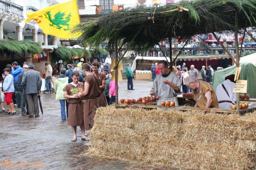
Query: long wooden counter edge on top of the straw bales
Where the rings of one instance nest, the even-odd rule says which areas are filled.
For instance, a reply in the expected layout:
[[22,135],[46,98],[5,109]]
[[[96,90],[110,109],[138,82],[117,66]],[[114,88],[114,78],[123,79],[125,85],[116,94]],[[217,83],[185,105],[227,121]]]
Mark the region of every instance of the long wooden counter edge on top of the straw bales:
[[[117,104],[117,107],[120,108],[144,108],[144,109],[163,109],[163,110],[181,110],[181,111],[209,111],[209,112],[215,112],[215,113],[236,113],[236,110],[234,109],[219,109],[219,108],[194,108],[194,107],[162,107],[162,106],[156,106],[156,102],[154,103],[147,103],[146,105],[142,104]],[[256,109],[256,102],[250,103],[248,108],[246,109],[240,109],[240,114],[249,113]]]

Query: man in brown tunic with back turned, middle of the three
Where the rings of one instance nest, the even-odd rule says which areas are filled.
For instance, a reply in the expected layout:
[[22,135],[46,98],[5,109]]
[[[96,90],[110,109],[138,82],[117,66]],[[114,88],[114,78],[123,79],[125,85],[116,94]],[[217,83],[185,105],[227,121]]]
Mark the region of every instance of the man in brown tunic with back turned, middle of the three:
[[[98,107],[100,107],[100,102],[98,97],[101,94],[100,91],[100,81],[97,76],[90,72],[90,65],[84,63],[82,65],[82,70],[84,75],[84,91],[78,95],[79,98],[82,98],[84,102],[84,127],[85,130],[90,130],[94,123],[94,116]],[[89,125],[90,122],[90,125]],[[89,145],[86,143],[86,145]]]

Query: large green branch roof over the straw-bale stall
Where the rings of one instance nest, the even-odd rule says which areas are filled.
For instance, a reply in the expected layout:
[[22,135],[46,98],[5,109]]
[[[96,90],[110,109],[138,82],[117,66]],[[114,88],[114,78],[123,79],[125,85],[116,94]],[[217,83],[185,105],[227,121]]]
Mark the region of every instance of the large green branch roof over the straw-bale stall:
[[166,38],[188,38],[210,32],[232,33],[235,12],[238,11],[238,29],[256,26],[255,0],[191,0],[180,1],[158,8],[136,7],[104,15],[96,21],[82,23],[73,33],[82,31],[81,40],[93,46],[115,38],[131,42],[136,51],[147,50]]

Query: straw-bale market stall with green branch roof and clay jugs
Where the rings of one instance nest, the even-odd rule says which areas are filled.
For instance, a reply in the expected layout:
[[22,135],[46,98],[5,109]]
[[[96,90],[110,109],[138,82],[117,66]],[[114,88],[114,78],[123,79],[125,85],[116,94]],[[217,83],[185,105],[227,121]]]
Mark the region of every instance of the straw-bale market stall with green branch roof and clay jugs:
[[[127,106],[123,104],[125,108],[119,108],[117,88],[117,64],[122,59],[117,57],[120,44],[120,48],[125,44],[127,49],[140,53],[154,49],[166,38],[183,38],[187,43],[192,36],[212,33],[238,68],[238,31],[256,26],[255,6],[255,0],[179,1],[158,8],[123,9],[77,26],[76,30],[83,31],[81,39],[94,46],[108,41],[109,49],[114,47],[116,56],[116,107],[97,109],[90,131],[89,154],[187,169],[255,169],[255,113],[239,115],[239,93],[236,111],[210,109],[210,113],[201,114],[208,109],[187,107],[187,111],[182,111],[186,106],[177,106],[177,110],[165,111],[166,103],[153,106],[149,102],[155,99],[151,97],[144,97],[149,104],[144,100],[143,107],[152,105],[148,110],[138,108],[142,103],[132,104],[135,109],[128,108],[131,102],[128,99],[124,101]],[[237,62],[216,32],[235,35]],[[171,48],[170,44],[169,54]],[[168,65],[175,65],[175,59],[171,57]],[[244,106],[247,104],[242,104],[241,113],[246,109]],[[251,103],[250,107],[255,108]]]

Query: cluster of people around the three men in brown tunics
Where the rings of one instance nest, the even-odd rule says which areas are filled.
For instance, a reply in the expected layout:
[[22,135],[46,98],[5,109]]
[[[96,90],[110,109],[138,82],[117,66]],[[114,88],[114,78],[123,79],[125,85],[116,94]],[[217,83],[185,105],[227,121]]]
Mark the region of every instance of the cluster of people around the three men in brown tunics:
[[[108,58],[109,56],[107,56]],[[111,80],[111,63],[68,64],[60,69],[60,76],[55,82],[56,100],[60,102],[62,121],[68,119],[73,132],[72,142],[77,141],[76,128],[82,131],[81,140],[88,141],[89,133],[94,123],[94,116],[98,107],[105,107],[115,103],[115,81]],[[81,75],[81,66],[83,76]],[[86,143],[85,145],[90,145]]]

